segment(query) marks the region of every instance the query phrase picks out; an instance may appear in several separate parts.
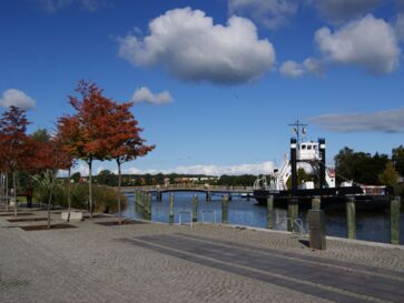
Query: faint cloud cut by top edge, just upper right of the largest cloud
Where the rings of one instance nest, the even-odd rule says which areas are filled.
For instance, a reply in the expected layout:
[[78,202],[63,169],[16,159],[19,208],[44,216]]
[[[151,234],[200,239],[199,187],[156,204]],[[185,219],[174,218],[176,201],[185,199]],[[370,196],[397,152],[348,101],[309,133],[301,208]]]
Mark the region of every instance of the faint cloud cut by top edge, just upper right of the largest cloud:
[[276,29],[296,13],[297,1],[290,0],[229,0],[229,12],[246,14],[268,29]]

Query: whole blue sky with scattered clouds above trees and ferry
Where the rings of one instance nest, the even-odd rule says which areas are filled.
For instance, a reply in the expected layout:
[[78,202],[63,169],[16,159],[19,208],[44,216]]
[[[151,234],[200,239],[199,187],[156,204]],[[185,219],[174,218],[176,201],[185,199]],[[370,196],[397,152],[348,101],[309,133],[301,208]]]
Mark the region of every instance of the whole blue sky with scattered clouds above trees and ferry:
[[327,162],[404,143],[401,0],[1,1],[0,38],[1,111],[27,108],[30,131],[80,79],[135,102],[157,149],[128,172],[264,172],[296,119]]

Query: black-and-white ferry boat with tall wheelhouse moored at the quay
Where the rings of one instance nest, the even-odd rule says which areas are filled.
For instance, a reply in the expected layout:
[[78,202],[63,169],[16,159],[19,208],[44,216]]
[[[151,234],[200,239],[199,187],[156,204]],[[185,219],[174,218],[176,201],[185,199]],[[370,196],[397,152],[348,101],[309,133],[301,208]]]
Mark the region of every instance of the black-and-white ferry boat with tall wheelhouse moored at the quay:
[[[353,181],[342,182],[336,186],[335,170],[326,166],[326,144],[324,139],[318,141],[303,141],[307,124],[298,120],[294,124],[296,137],[290,138],[290,155],[285,155],[280,169],[275,169],[268,178],[263,175],[254,183],[254,198],[259,204],[266,204],[269,195],[274,196],[275,206],[287,206],[293,198],[298,200],[299,206],[309,209],[312,199],[319,196],[323,209],[344,208],[348,198],[355,199],[357,209],[380,210],[390,204],[391,190],[388,186],[355,184]],[[297,184],[297,169],[305,168],[312,174],[318,175],[319,185],[314,181]],[[289,186],[288,186],[288,180]]]

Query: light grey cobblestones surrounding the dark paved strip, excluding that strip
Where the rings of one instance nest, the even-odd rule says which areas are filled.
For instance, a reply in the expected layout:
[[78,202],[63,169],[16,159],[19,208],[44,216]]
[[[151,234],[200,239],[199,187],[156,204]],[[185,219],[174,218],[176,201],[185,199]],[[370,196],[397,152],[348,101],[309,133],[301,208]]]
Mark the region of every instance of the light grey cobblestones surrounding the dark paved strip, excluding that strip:
[[[46,214],[35,212],[38,218]],[[51,219],[55,224],[62,223],[60,214],[51,214]],[[327,251],[312,251],[296,235],[276,232],[201,224],[195,224],[194,229],[166,224],[115,228],[96,224],[109,221],[116,219],[71,222],[77,229],[70,230],[24,232],[10,229],[16,224],[0,218],[0,302],[335,302],[338,297],[348,297],[344,292],[328,292],[335,297],[329,295],[327,300],[313,287],[312,295],[305,292],[307,285],[295,291],[296,283],[285,282],[280,276],[272,277],[273,283],[268,283],[258,279],[263,276],[259,271],[250,271],[245,276],[240,274],[242,267],[229,272],[224,269],[225,264],[213,267],[122,241],[141,236],[179,238],[178,233],[284,251],[302,256],[304,262],[313,262],[304,257],[319,257],[323,263],[329,260],[373,266],[382,271],[382,277],[394,271],[396,281],[402,281],[400,274],[404,273],[404,251],[398,249],[333,240],[327,242]],[[231,249],[225,252],[227,257],[235,256]],[[297,256],[288,255],[287,260]]]

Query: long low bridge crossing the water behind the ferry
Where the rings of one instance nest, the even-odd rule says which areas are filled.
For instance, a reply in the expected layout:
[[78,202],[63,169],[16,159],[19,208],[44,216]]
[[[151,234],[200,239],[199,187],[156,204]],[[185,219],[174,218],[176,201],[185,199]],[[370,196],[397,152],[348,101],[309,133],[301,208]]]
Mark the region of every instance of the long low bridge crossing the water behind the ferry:
[[151,185],[151,186],[124,186],[122,193],[134,193],[144,191],[155,194],[157,200],[161,200],[161,194],[166,192],[203,192],[206,193],[206,201],[210,201],[211,195],[253,195],[253,186],[221,186],[221,185],[199,185],[199,184],[170,184],[170,185]]

